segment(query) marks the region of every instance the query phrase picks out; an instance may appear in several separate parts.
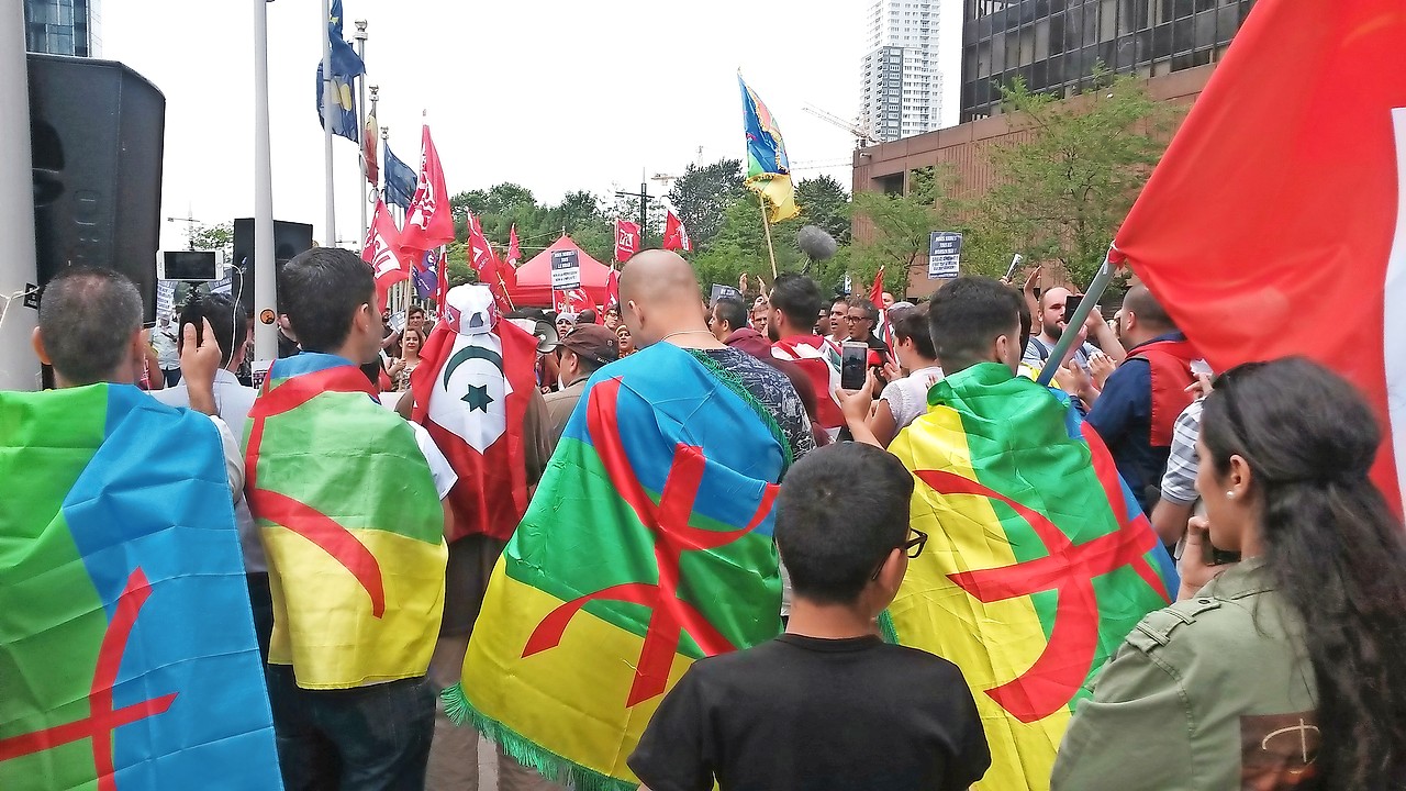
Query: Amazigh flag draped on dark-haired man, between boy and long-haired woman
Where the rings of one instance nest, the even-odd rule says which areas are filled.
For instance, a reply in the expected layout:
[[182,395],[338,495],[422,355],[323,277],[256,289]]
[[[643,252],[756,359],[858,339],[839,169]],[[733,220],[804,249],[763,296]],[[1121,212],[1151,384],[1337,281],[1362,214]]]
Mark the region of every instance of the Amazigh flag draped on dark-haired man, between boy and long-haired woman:
[[889,612],[955,662],[995,759],[979,788],[1047,790],[1085,681],[1175,597],[1171,559],[1102,441],[1049,390],[983,363],[934,386],[889,448],[928,548]]

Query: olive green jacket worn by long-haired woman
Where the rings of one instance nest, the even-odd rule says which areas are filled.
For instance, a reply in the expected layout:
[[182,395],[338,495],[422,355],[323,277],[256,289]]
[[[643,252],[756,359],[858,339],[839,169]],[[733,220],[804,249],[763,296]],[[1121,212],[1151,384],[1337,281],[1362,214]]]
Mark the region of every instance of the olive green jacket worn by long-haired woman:
[[1303,624],[1264,560],[1246,560],[1128,635],[1074,712],[1050,788],[1310,788],[1316,702]]

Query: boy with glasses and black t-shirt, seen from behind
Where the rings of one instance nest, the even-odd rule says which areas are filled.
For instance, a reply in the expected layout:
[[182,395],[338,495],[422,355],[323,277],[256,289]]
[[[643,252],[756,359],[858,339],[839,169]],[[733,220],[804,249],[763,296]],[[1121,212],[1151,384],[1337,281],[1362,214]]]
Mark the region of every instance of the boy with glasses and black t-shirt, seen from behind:
[[786,633],[688,670],[628,759],[644,788],[956,791],[981,778],[991,754],[962,671],[875,628],[927,540],[908,528],[912,486],[869,445],[792,467],[776,502]]

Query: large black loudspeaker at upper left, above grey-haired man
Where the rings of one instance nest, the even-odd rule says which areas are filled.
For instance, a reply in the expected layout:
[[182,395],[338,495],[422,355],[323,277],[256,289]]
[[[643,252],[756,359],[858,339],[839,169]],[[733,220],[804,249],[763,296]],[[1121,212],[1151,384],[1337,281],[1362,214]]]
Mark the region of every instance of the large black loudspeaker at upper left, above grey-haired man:
[[155,324],[166,97],[121,63],[28,56],[39,283],[76,265],[136,283]]

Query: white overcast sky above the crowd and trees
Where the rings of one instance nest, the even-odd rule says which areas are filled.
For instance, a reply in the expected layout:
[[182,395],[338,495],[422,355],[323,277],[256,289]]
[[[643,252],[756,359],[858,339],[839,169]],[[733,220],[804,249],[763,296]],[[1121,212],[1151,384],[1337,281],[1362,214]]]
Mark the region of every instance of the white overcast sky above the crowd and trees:
[[[744,152],[735,73],[780,124],[797,176],[849,186],[852,137],[801,111],[858,113],[865,0],[343,0],[367,20],[368,84],[391,148],[419,163],[420,113],[450,193],[516,182],[538,200],[638,189]],[[269,8],[274,217],[323,238],[323,144],[315,110],[318,0]],[[821,10],[823,8],[823,10]],[[103,58],[166,94],[162,248],[253,215],[253,13],[249,0],[104,0]],[[357,148],[333,139],[337,236],[360,235]],[[806,169],[807,162],[831,163]],[[664,184],[650,182],[651,191]]]

